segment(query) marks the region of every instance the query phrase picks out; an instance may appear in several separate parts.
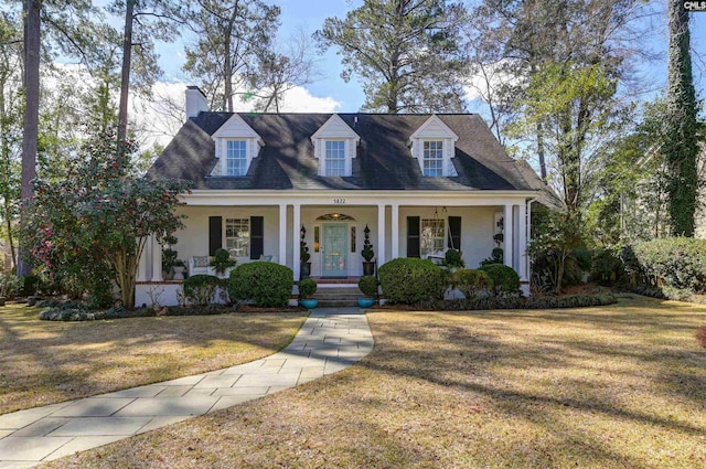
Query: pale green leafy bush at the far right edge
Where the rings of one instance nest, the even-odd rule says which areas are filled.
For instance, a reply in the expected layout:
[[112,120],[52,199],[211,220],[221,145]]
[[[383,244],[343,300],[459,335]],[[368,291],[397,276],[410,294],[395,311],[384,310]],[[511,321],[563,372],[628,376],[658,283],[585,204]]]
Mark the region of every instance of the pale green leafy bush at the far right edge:
[[668,237],[637,243],[623,249],[621,257],[638,281],[706,292],[706,239]]

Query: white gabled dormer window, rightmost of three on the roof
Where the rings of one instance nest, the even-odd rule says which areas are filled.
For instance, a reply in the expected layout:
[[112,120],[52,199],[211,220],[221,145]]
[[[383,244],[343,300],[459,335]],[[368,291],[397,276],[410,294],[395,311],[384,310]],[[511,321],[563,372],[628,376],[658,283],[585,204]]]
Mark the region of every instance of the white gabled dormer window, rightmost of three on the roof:
[[426,178],[458,175],[453,167],[456,141],[459,137],[437,115],[427,119],[409,137],[411,157],[419,162]]

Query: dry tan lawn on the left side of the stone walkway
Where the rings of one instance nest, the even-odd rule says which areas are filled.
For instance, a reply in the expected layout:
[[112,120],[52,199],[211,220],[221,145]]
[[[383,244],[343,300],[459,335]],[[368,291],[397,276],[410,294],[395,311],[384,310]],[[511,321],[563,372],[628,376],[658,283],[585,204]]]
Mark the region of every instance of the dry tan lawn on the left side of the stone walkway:
[[203,373],[286,347],[306,313],[40,321],[0,307],[0,414]]

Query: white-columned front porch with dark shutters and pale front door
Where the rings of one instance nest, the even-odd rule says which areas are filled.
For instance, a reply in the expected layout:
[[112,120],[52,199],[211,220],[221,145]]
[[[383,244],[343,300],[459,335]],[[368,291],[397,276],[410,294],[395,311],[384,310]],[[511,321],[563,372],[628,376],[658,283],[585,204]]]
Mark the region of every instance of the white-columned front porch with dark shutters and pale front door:
[[[288,198],[285,192],[248,192],[216,198],[194,191],[184,196],[186,204],[180,207],[188,216],[186,227],[175,233],[179,241],[172,248],[190,266],[190,275],[197,273],[191,268],[194,259],[207,260],[216,249],[225,248],[238,265],[276,262],[290,267],[299,280],[303,238],[311,256],[311,277],[321,288],[356,286],[363,275],[361,252],[367,227],[377,267],[397,257],[438,260],[446,249],[454,248],[462,253],[468,268],[477,268],[494,247],[501,247],[505,265],[528,285],[526,201],[517,194],[403,192]],[[152,241],[140,259],[138,296],[143,299],[150,281],[163,280],[161,254],[162,246]],[[136,301],[145,302],[137,296]]]

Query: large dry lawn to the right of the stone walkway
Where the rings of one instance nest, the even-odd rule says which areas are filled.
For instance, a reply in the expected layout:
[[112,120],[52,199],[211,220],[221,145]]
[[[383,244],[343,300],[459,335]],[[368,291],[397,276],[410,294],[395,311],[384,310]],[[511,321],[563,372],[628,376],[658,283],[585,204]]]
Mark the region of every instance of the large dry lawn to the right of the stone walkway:
[[704,306],[368,319],[341,373],[46,467],[706,467]]

